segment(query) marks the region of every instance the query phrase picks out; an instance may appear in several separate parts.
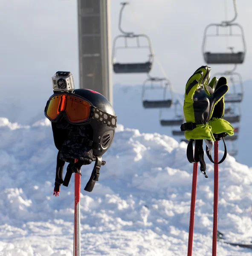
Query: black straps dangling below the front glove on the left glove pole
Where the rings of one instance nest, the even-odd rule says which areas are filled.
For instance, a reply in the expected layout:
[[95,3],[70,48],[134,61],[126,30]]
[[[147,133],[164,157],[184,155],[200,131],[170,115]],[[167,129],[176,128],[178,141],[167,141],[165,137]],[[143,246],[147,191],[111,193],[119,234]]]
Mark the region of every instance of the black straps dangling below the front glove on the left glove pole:
[[186,156],[190,163],[198,163],[200,162],[200,171],[208,178],[206,174],[206,163],[204,160],[204,150],[203,150],[203,140],[195,140],[195,148],[193,152],[193,142],[194,140],[190,140],[187,145]]

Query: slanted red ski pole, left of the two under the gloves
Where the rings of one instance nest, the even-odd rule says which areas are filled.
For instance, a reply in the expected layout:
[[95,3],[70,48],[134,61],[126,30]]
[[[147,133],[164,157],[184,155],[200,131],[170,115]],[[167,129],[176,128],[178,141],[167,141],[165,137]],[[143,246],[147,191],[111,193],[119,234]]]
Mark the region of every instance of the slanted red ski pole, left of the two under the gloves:
[[193,174],[192,174],[192,185],[191,185],[191,212],[190,212],[187,256],[192,255],[192,244],[193,244],[193,236],[194,236],[194,212],[195,212],[196,188],[197,188],[197,172],[198,172],[198,163],[194,163]]

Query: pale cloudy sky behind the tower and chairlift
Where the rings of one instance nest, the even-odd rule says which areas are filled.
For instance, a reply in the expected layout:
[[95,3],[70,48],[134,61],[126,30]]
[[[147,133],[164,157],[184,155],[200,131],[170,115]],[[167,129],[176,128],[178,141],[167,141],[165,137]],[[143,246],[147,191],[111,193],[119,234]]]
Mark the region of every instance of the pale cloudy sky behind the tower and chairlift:
[[[150,37],[155,53],[151,76],[167,76],[174,91],[183,93],[188,77],[205,64],[201,53],[203,32],[209,23],[225,19],[225,1],[226,16],[232,18],[231,0],[134,0],[125,7],[122,26],[127,31]],[[243,80],[248,80],[251,79],[252,2],[237,2],[237,22],[243,26],[247,45],[244,64],[237,72]],[[120,2],[111,0],[111,39],[119,34],[119,10]],[[30,117],[35,118],[40,109],[43,112],[52,94],[51,76],[56,71],[71,71],[78,87],[77,0],[8,0],[1,3],[0,14],[0,68],[4,91],[0,115],[14,109],[11,121],[25,122]],[[231,44],[230,40],[225,43]],[[213,43],[209,47],[217,49]],[[138,59],[142,52],[122,53],[122,56]],[[232,65],[212,66],[212,74],[229,68]],[[145,79],[145,74],[113,74],[113,84],[142,84]],[[20,120],[22,111],[27,118]]]

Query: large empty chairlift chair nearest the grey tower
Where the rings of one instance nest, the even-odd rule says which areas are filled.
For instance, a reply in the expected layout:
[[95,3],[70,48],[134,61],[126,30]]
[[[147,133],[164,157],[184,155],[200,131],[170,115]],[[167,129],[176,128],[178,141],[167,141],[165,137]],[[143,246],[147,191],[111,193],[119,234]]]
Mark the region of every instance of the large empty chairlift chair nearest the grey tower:
[[[128,3],[121,3],[122,4],[122,8],[120,10],[120,14],[119,14],[119,30],[122,32],[122,35],[118,35],[116,36],[116,38],[114,38],[113,40],[113,50],[112,50],[112,58],[113,58],[113,70],[115,73],[117,74],[122,74],[122,73],[149,73],[151,71],[151,67],[152,67],[152,63],[153,63],[153,51],[152,51],[152,47],[151,47],[151,41],[150,38],[145,35],[145,34],[139,34],[136,35],[133,32],[125,32],[122,30],[121,28],[121,23],[122,23],[122,11],[125,7],[126,4]],[[123,47],[117,47],[116,43],[118,42],[118,40],[122,38],[124,39],[124,46]],[[144,46],[144,45],[140,45],[140,40],[141,38],[144,38],[148,45]],[[136,40],[136,46],[133,47],[129,47],[127,45],[128,40],[129,39],[135,39]],[[136,63],[120,63],[120,62],[116,62],[116,51],[118,49],[148,49],[149,50],[149,56],[148,56],[148,60],[146,60],[145,62],[136,62]]]

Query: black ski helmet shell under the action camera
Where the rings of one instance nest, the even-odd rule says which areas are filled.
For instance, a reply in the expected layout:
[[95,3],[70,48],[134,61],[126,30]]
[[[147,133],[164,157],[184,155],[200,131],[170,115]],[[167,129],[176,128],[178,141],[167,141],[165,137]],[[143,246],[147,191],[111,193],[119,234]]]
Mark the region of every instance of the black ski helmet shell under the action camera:
[[[61,94],[61,93],[55,93]],[[64,94],[66,94],[64,92]],[[110,102],[100,93],[89,89],[75,89],[71,93],[86,99],[91,106],[90,118],[87,121],[76,125],[90,125],[93,130],[93,139],[90,140],[89,146],[93,149],[95,156],[103,155],[113,142],[116,131],[116,114]],[[55,122],[52,122],[52,132],[56,148],[60,150],[67,134],[57,128]],[[91,136],[92,137],[92,136]]]

